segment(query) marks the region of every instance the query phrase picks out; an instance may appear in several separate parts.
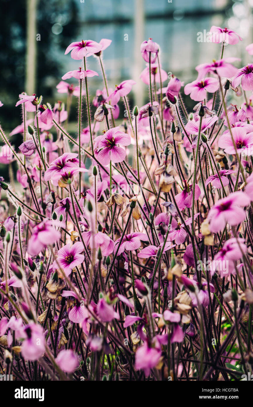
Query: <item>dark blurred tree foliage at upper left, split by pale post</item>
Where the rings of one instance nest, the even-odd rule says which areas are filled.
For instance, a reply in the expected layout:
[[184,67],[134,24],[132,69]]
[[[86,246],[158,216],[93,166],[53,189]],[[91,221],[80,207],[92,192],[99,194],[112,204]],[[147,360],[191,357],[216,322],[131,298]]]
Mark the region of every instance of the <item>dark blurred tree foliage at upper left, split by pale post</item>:
[[[19,116],[13,115],[13,103],[24,91],[26,63],[26,1],[0,2],[0,100],[1,123],[11,130],[20,123]],[[55,50],[64,51],[77,32],[77,7],[74,0],[38,0],[37,33],[37,94],[51,96],[52,78],[61,77],[61,63],[55,57]],[[62,32],[57,35],[52,27],[57,24]]]

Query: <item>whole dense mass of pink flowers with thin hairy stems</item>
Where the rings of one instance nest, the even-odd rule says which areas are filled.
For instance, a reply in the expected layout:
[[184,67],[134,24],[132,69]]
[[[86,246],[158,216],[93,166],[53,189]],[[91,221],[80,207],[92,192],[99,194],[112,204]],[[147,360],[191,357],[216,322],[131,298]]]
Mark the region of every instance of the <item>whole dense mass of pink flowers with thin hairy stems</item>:
[[168,81],[153,39],[141,44],[142,107],[129,104],[132,79],[106,81],[110,39],[73,42],[76,69],[56,87],[67,110],[23,92],[18,149],[0,127],[0,162],[17,166],[16,181],[0,177],[0,368],[16,380],[228,381],[252,370],[253,64],[224,57],[225,42],[242,40],[234,31],[210,32],[221,55],[186,85]]

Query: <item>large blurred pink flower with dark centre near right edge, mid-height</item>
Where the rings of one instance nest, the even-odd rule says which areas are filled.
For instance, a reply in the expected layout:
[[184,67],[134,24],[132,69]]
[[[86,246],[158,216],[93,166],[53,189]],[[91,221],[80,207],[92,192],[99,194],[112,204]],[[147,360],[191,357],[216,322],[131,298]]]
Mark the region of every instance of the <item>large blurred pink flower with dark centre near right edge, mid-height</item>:
[[233,192],[219,199],[208,214],[211,232],[220,232],[225,228],[226,223],[231,226],[241,223],[246,217],[242,208],[248,204],[249,198],[243,192]]

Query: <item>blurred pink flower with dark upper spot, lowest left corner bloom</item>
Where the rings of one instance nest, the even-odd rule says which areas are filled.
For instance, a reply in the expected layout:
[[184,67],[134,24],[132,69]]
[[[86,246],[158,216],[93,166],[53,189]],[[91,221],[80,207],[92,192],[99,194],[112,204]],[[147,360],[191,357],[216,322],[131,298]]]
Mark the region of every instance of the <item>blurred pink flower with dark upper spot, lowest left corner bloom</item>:
[[38,360],[45,352],[45,337],[42,326],[32,322],[26,325],[24,333],[22,356],[26,360]]

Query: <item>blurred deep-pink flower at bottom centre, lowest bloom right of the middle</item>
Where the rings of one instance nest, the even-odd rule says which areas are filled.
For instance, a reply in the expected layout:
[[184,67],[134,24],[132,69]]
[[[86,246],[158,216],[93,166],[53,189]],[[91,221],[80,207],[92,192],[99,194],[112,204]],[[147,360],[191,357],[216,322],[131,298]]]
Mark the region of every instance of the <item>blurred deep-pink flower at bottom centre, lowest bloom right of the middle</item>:
[[143,346],[136,350],[135,368],[136,370],[144,370],[145,375],[148,376],[150,369],[156,367],[161,357],[162,352],[160,348],[151,348],[145,342]]

